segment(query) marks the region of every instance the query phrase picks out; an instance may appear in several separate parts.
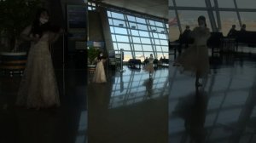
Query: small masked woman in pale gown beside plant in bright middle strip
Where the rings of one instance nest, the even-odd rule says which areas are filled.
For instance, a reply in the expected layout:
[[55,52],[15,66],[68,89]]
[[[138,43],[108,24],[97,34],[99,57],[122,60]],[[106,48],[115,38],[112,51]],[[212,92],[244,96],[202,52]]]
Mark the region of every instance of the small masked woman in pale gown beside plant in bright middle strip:
[[93,77],[93,82],[94,83],[106,83],[106,74],[104,70],[104,63],[106,61],[106,57],[103,56],[102,53],[99,54],[97,57],[97,65],[96,65],[96,72]]

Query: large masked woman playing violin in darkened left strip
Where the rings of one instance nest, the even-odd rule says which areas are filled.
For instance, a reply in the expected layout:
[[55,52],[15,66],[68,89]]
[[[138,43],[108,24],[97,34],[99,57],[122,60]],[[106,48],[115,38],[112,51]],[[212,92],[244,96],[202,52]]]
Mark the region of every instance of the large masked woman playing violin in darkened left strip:
[[32,26],[21,33],[24,40],[31,41],[24,77],[20,82],[16,104],[27,108],[60,106],[55,70],[49,52],[49,43],[58,37],[60,28],[49,26],[49,13],[39,9]]

